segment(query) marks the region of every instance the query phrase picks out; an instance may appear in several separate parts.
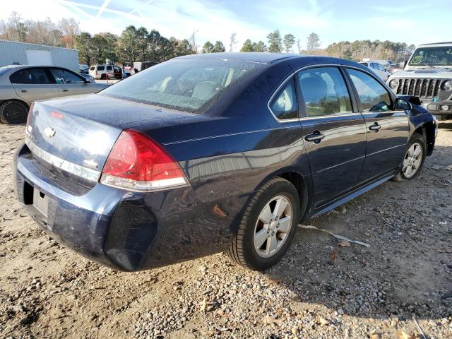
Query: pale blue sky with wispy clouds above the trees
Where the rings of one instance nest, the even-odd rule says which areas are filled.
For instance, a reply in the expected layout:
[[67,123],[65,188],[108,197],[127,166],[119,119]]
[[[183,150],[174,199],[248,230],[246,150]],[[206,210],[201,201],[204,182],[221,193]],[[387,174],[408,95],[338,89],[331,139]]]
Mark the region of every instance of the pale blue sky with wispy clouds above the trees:
[[[24,19],[75,18],[92,34],[121,34],[127,25],[156,29],[165,37],[196,44],[220,40],[228,46],[237,33],[238,51],[246,39],[266,42],[268,32],[292,33],[306,47],[316,32],[322,47],[338,41],[391,40],[422,44],[451,41],[451,0],[14,0],[2,1],[0,20],[12,11]],[[296,48],[296,47],[295,47]]]

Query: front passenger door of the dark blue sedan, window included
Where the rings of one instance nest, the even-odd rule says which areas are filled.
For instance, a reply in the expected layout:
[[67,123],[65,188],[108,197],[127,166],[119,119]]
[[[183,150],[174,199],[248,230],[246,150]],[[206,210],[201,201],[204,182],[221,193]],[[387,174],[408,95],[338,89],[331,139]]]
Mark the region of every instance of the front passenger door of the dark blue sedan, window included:
[[405,111],[393,109],[393,97],[370,73],[347,69],[367,129],[367,149],[360,182],[393,172],[405,155],[409,122]]

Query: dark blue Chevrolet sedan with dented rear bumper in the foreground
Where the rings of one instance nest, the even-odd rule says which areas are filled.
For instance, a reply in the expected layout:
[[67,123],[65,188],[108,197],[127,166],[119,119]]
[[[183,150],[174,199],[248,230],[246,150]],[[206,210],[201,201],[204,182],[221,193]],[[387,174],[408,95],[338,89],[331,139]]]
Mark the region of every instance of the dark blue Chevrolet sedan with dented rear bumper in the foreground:
[[417,177],[437,131],[417,104],[343,59],[179,57],[35,102],[18,198],[51,237],[120,270],[219,251],[263,270],[298,222]]

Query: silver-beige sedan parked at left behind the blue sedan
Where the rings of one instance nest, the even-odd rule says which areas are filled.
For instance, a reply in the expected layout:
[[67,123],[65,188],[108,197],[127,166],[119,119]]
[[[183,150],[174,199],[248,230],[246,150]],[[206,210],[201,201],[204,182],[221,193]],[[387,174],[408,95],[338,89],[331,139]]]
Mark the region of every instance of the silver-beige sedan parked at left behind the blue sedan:
[[96,93],[108,85],[91,83],[82,76],[54,66],[0,67],[0,122],[25,122],[35,100]]

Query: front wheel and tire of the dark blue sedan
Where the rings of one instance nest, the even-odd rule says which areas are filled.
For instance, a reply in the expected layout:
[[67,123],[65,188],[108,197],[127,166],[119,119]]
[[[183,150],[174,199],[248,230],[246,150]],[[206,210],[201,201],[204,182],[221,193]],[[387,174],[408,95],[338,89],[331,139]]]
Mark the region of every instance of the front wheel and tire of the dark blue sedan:
[[419,176],[427,155],[427,145],[424,137],[418,133],[413,134],[408,144],[408,150],[403,158],[403,165],[400,172],[393,177],[395,182],[405,182]]

